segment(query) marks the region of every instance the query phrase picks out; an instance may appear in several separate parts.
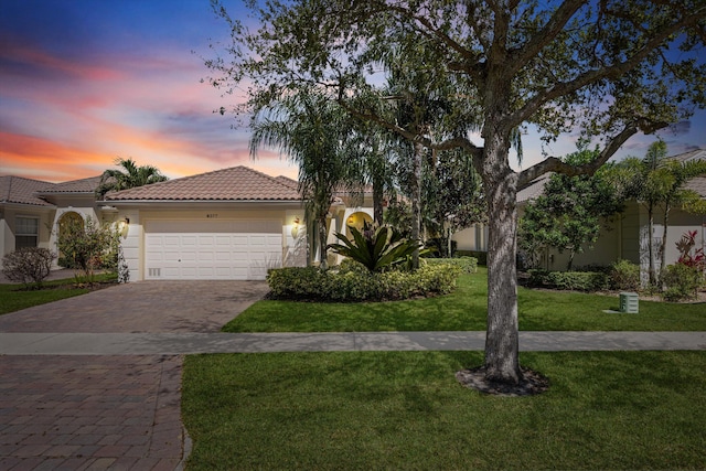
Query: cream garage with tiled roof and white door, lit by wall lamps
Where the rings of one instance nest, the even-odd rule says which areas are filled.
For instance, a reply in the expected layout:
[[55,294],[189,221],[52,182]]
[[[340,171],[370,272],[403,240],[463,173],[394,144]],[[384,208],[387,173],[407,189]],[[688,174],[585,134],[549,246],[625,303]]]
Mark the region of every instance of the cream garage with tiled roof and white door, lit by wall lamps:
[[303,206],[286,178],[234,167],[108,193],[99,203],[127,228],[130,281],[264,280],[270,268],[306,265],[292,256],[306,237],[291,235]]

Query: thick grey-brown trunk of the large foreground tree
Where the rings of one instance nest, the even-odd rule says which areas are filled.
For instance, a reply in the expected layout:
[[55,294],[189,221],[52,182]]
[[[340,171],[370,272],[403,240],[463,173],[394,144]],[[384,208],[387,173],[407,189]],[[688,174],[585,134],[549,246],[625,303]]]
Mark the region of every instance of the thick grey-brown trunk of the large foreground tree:
[[509,384],[522,381],[517,323],[517,174],[499,140],[485,139],[483,180],[488,199],[488,331],[485,376]]

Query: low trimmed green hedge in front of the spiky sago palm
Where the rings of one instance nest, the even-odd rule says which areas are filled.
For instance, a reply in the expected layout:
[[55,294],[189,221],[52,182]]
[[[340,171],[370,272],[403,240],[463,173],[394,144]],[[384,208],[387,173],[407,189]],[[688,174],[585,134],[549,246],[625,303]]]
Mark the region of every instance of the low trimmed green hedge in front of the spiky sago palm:
[[365,301],[408,299],[414,296],[446,295],[456,288],[461,268],[432,264],[416,271],[373,272],[349,260],[338,270],[287,267],[268,271],[270,297],[317,301]]

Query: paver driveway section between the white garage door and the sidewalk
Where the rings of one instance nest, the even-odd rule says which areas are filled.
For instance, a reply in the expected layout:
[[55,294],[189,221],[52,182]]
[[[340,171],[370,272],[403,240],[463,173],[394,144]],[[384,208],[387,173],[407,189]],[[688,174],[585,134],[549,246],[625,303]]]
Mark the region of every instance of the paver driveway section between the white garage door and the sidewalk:
[[217,332],[265,281],[139,281],[0,315],[0,332]]

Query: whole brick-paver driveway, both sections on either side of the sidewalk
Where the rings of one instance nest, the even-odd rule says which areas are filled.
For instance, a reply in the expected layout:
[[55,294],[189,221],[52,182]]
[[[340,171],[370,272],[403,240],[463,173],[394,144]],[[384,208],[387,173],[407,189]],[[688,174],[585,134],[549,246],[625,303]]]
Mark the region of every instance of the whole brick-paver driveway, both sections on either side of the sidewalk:
[[[140,281],[0,315],[0,332],[217,332],[266,292]],[[181,370],[181,355],[0,356],[0,469],[182,469]]]

